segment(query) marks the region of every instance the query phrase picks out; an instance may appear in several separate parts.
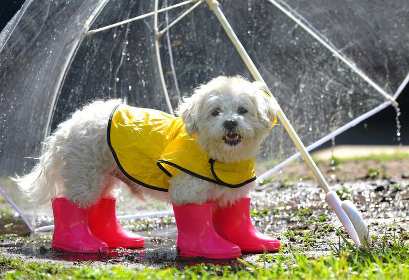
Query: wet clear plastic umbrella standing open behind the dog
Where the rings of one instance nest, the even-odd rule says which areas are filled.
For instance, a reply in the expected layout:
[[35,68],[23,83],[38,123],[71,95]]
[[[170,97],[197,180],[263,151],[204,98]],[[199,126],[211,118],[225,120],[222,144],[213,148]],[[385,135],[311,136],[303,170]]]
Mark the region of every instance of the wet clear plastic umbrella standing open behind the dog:
[[[220,74],[264,81],[281,106],[256,159],[259,178],[301,155],[314,170],[307,150],[397,106],[408,9],[380,0],[27,0],[0,35],[0,190],[32,229],[52,223],[51,207],[35,209],[9,177],[28,173],[68,114],[104,97],[172,113]],[[123,191],[125,216],[168,211]]]

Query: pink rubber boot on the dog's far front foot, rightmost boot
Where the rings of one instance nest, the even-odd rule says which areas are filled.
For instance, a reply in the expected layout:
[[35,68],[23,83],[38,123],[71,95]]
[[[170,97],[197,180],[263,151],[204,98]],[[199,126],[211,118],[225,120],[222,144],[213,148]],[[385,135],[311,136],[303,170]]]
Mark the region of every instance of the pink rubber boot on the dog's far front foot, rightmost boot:
[[216,208],[213,225],[224,239],[238,245],[243,252],[272,252],[280,249],[280,241],[258,231],[250,219],[250,200],[242,198],[235,204]]

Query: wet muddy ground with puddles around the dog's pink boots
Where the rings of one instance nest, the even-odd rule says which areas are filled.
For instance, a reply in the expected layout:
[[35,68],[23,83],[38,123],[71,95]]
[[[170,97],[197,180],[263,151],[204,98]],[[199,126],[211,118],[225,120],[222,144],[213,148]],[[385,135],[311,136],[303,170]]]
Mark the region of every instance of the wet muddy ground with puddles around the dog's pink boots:
[[[342,200],[352,200],[369,226],[370,235],[409,239],[409,159],[377,162],[357,160],[319,168]],[[3,207],[9,207],[3,202]],[[343,243],[337,229],[349,241],[332,209],[325,202],[325,193],[311,176],[305,163],[285,167],[278,180],[260,185],[252,199],[252,219],[256,227],[282,242],[283,253],[290,248],[309,255],[328,254],[330,246]],[[11,211],[12,213],[12,211]],[[123,222],[124,227],[146,239],[143,249],[112,250],[109,254],[75,254],[51,248],[52,232],[30,234],[21,219],[0,219],[2,256],[25,262],[118,265],[127,267],[184,267],[201,262],[240,264],[238,261],[180,259],[176,256],[177,230],[173,217],[145,218]],[[11,214],[11,216],[13,216]],[[17,234],[17,235],[16,235]],[[352,241],[351,241],[352,242]],[[271,253],[272,256],[278,253]],[[255,263],[260,254],[244,254],[242,259]],[[274,259],[274,258],[273,258]]]

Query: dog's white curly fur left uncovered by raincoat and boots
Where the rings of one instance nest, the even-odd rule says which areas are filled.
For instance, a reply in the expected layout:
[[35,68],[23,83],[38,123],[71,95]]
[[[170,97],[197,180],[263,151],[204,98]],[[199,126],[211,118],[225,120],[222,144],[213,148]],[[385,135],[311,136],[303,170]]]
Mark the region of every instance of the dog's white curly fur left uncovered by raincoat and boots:
[[[262,84],[242,77],[220,76],[195,89],[184,98],[176,113],[188,134],[196,134],[200,147],[213,159],[226,163],[255,156],[276,118],[276,102],[263,94]],[[16,177],[19,188],[32,201],[42,204],[54,197],[66,197],[81,207],[96,204],[101,197],[115,195],[121,181],[134,196],[167,201],[176,205],[214,202],[215,206],[247,197],[254,187],[249,183],[229,188],[203,181],[179,171],[170,179],[169,192],[151,190],[125,177],[107,144],[110,113],[120,99],[90,102],[62,122],[47,138],[45,152],[32,172]],[[240,113],[244,108],[247,112]],[[212,115],[217,110],[218,115]],[[229,131],[226,120],[234,120],[237,145],[223,140]],[[146,172],[147,170],[141,170]]]

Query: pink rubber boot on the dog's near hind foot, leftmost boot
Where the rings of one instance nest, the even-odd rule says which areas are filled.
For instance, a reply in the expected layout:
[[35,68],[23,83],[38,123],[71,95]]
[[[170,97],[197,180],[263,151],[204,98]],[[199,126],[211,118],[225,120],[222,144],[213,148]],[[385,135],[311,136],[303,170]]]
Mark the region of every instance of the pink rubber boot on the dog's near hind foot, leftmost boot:
[[79,208],[66,198],[55,198],[52,205],[54,249],[82,253],[109,252],[108,245],[89,230],[88,209]]

